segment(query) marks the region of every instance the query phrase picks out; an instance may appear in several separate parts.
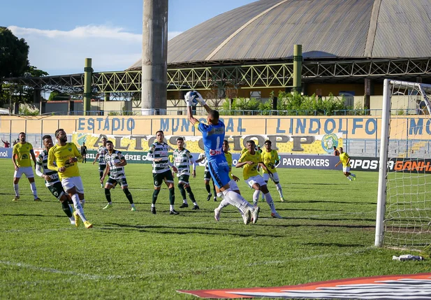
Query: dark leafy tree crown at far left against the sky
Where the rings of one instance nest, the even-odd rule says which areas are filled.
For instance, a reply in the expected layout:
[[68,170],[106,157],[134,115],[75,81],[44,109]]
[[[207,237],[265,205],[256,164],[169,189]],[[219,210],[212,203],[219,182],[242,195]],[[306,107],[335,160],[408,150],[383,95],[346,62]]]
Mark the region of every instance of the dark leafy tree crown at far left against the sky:
[[29,45],[0,27],[0,78],[20,77],[29,69]]

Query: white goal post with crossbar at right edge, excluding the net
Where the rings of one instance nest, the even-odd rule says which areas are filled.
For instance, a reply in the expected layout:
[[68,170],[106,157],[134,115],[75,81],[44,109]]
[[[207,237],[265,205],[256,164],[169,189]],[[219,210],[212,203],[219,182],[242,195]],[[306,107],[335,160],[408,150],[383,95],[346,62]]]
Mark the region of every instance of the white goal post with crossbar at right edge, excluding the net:
[[[416,90],[423,97],[428,113],[431,113],[430,94],[431,85],[422,83],[411,83],[405,81],[385,79],[383,83],[383,107],[381,115],[381,138],[380,138],[380,160],[379,160],[379,188],[377,193],[377,217],[376,217],[376,235],[374,245],[383,246],[385,231],[385,213],[386,213],[386,192],[388,176],[388,148],[389,148],[389,131],[391,115],[391,99],[393,88],[411,88]],[[428,94],[428,96],[427,96]],[[431,157],[430,157],[431,158]],[[430,225],[430,224],[428,224]],[[431,243],[431,241],[429,241]]]

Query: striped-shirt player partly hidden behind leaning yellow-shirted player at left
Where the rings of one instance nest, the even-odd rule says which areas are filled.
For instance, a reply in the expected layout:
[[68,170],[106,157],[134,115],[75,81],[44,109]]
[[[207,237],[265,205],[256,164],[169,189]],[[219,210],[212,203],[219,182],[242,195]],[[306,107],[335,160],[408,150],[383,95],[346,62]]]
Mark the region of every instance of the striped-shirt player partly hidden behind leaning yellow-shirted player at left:
[[45,150],[39,154],[38,159],[36,160],[36,175],[45,179],[46,187],[48,187],[52,196],[61,202],[61,207],[63,208],[64,213],[66,213],[69,220],[71,220],[71,224],[74,225],[75,217],[73,217],[71,207],[69,206],[69,202],[73,203],[72,199],[64,192],[57,171],[48,169],[48,152],[50,151],[50,148],[54,146],[54,143],[52,143],[52,137],[50,135],[43,136],[42,142],[45,146]]

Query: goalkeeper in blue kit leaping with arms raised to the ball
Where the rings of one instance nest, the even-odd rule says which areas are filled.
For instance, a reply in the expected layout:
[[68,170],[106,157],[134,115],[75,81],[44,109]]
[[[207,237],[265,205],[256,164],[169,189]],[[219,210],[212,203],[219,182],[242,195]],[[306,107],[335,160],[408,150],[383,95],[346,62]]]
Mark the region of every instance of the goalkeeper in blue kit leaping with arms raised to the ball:
[[[196,91],[187,92],[185,101],[187,103],[187,117],[189,121],[196,129],[202,132],[205,155],[212,180],[216,185],[217,197],[225,199],[228,203],[238,208],[242,213],[244,224],[249,224],[251,219],[253,223],[256,223],[260,208],[252,206],[240,194],[233,192],[229,186],[229,181],[231,181],[231,178],[229,178],[230,171],[223,151],[225,126],[219,120],[219,112],[207,106],[205,100]],[[207,124],[199,122],[198,119],[193,117],[191,106],[196,101],[207,111]]]

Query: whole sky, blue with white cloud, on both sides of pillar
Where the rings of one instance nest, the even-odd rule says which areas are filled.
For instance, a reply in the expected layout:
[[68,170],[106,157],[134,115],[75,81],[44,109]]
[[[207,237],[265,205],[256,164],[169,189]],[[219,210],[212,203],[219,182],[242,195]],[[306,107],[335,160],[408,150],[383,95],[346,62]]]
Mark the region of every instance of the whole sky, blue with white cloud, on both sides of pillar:
[[[256,0],[169,0],[169,38]],[[263,1],[263,0],[262,0]],[[119,71],[140,59],[143,0],[20,0],[1,3],[0,26],[30,46],[30,64],[50,75]]]

